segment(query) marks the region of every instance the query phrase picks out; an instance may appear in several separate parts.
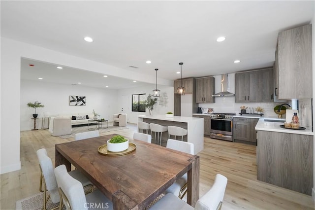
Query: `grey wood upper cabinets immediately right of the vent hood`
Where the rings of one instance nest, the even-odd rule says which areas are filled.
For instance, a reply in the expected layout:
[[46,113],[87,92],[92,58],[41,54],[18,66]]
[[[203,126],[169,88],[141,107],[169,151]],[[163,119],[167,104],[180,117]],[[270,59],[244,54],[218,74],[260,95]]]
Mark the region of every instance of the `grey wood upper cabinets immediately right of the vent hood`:
[[273,102],[273,68],[235,73],[235,102]]

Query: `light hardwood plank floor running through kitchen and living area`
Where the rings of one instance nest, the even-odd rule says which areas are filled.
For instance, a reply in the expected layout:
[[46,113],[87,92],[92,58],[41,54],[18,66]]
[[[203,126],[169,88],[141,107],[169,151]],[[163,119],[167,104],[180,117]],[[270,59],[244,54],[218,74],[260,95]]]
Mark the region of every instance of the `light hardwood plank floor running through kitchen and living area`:
[[[128,124],[128,127],[100,135],[120,134],[132,138],[136,125]],[[37,149],[46,148],[54,162],[55,144],[72,140],[53,137],[48,130],[22,131],[21,170],[0,176],[0,209],[15,209],[15,201],[39,192]],[[315,209],[311,196],[257,181],[255,146],[205,137],[204,150],[197,155],[200,156],[200,196],[209,190],[216,174],[228,179],[222,210]]]

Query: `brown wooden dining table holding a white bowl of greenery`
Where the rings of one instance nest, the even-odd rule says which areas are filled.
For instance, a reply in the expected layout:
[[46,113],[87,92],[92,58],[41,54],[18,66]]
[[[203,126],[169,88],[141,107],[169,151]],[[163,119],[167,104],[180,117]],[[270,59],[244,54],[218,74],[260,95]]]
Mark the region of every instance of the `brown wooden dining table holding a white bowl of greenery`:
[[142,210],[188,173],[187,203],[199,199],[199,156],[140,140],[130,140],[136,149],[121,156],[106,156],[98,147],[115,135],[56,144],[55,167],[71,164],[80,170],[107,198],[115,210]]

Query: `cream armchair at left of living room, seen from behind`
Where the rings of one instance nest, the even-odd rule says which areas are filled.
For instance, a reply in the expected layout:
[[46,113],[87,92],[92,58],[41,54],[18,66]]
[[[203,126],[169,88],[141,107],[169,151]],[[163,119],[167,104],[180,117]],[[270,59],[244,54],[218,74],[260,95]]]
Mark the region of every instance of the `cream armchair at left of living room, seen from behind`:
[[54,137],[71,134],[72,132],[71,119],[51,117],[49,124],[49,132]]

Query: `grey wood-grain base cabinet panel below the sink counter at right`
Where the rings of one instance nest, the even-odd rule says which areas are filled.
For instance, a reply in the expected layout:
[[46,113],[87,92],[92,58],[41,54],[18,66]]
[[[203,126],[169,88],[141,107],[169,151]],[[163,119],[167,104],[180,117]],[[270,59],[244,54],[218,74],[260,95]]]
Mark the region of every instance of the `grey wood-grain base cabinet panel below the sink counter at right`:
[[257,131],[257,179],[312,195],[313,136]]

